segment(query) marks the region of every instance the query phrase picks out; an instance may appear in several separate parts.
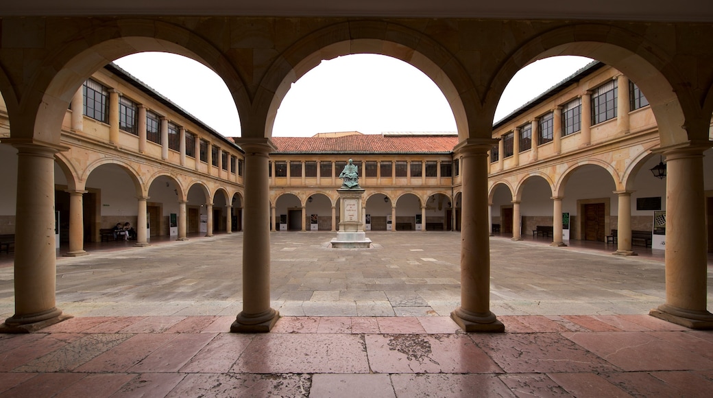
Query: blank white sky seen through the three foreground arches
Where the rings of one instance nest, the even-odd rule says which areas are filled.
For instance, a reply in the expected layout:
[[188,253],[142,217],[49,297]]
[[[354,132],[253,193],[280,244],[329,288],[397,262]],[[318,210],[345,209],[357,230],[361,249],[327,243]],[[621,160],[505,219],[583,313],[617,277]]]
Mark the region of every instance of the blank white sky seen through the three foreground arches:
[[[526,66],[503,93],[496,121],[590,61],[558,56]],[[215,131],[240,136],[225,83],[201,63],[170,53],[138,53],[114,62]],[[443,93],[424,73],[396,58],[358,54],[322,61],[294,83],[280,104],[272,136],[334,131],[456,131],[456,122]]]

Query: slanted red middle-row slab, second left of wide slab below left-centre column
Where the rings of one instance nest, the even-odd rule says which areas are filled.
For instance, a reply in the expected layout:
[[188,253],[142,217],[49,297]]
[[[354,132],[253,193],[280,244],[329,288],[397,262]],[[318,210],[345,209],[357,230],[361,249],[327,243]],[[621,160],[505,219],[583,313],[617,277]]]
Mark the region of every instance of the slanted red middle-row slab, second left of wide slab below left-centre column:
[[195,354],[213,340],[210,333],[183,333],[148,354],[130,372],[178,372]]

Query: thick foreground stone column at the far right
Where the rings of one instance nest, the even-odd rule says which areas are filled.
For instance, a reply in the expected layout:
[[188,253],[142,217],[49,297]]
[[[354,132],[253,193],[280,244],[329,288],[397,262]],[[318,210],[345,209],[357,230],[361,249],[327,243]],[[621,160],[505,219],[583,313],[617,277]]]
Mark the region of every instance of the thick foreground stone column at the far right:
[[706,309],[707,233],[703,151],[664,150],[666,158],[666,303],[650,315],[692,329],[712,329]]

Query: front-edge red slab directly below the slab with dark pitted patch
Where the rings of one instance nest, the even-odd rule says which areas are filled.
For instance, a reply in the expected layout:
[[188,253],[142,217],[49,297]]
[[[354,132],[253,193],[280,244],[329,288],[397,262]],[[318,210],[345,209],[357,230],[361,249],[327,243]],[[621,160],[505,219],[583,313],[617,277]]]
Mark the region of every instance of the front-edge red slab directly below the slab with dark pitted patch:
[[393,374],[397,397],[513,397],[493,374]]

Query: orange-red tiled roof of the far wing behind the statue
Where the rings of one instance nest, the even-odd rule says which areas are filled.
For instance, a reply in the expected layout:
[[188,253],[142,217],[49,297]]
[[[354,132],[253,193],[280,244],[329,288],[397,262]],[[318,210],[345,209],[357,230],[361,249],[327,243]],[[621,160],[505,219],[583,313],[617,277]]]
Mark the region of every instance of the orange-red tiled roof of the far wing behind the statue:
[[458,136],[272,137],[272,143],[277,146],[273,153],[451,153],[458,143]]

